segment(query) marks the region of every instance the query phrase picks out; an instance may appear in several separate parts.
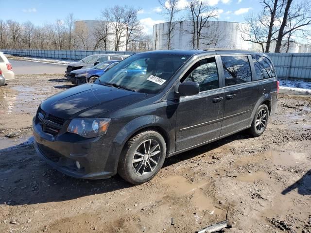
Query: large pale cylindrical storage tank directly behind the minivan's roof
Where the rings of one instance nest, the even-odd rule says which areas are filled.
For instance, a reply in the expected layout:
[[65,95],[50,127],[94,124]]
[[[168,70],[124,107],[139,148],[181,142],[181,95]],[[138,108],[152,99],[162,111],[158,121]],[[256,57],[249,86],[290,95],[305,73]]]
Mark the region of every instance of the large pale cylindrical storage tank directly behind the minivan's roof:
[[[171,49],[192,49],[192,22],[175,22]],[[168,49],[168,27],[169,23],[159,23],[154,25],[153,44],[155,50]],[[207,27],[202,29],[202,39],[199,48],[229,48],[248,50],[251,44],[244,42],[239,28],[245,27],[243,23],[208,21]],[[206,37],[206,38],[203,38]]]

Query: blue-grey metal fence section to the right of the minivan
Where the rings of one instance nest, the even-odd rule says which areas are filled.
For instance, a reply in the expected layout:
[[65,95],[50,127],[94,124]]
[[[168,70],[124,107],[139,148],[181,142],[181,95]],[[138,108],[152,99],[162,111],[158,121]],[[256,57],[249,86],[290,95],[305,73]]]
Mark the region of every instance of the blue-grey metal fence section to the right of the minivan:
[[276,67],[276,75],[286,79],[311,81],[311,53],[267,53]]

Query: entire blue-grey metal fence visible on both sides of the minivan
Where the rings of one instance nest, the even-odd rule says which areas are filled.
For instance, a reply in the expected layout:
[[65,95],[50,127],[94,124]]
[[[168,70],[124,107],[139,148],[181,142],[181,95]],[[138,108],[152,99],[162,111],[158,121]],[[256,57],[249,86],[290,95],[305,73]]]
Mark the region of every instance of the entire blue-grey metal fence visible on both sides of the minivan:
[[[85,50],[1,50],[5,54],[41,57],[51,59],[80,60],[88,55],[125,54],[132,55],[135,52],[128,51],[85,51]],[[276,74],[279,78],[306,79],[311,81],[311,53],[267,53],[271,57]]]

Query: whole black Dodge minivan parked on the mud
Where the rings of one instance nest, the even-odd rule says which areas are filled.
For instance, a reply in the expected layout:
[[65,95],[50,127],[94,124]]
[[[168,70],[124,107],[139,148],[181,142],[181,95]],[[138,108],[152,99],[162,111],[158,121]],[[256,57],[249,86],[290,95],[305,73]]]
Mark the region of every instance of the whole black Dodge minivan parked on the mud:
[[35,149],[73,177],[151,180],[166,157],[249,129],[276,111],[278,81],[263,53],[159,50],[121,61],[95,83],[44,100]]

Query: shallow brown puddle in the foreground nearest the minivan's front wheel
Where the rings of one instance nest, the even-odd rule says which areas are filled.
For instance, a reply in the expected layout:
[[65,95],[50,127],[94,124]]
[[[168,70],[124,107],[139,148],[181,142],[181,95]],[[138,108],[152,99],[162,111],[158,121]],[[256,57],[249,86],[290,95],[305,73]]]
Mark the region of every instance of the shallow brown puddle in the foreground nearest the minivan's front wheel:
[[178,197],[192,195],[191,201],[197,210],[208,210],[210,214],[223,213],[222,209],[214,206],[214,197],[207,197],[202,191],[208,187],[210,181],[190,183],[182,176],[171,176],[163,183],[169,186],[169,192],[173,192]]

